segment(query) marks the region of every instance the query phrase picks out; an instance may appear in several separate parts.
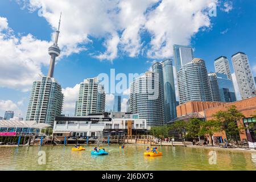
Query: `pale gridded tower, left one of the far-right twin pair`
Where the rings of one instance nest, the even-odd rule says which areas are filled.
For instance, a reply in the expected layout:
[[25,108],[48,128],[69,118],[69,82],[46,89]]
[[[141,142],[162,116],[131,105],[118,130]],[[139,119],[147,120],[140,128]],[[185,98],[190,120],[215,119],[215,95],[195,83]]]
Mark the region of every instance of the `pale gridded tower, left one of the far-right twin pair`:
[[229,61],[227,57],[220,56],[214,61],[214,68],[216,73],[224,73],[228,76],[229,80],[232,80],[230,67],[229,67]]

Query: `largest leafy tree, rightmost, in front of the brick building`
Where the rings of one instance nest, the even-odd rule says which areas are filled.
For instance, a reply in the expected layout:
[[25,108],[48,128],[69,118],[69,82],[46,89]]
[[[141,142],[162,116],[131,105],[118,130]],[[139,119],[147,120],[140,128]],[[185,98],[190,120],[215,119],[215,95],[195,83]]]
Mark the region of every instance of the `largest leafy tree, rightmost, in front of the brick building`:
[[234,105],[226,108],[228,110],[218,111],[216,114],[213,114],[213,117],[216,118],[216,121],[221,122],[221,129],[237,142],[237,135],[241,132],[241,130],[245,129],[243,126],[238,126],[237,121],[245,118],[245,116],[240,113],[240,111],[238,111],[237,107]]

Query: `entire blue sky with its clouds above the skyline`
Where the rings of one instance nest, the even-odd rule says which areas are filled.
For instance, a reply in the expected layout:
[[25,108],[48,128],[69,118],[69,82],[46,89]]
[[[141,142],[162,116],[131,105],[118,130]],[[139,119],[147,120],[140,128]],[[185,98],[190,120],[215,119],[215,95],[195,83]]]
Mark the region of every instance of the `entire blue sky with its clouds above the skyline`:
[[[10,109],[25,117],[32,81],[39,73],[47,75],[47,47],[60,11],[62,56],[57,58],[54,75],[64,88],[65,114],[73,113],[77,84],[85,78],[109,74],[110,69],[126,75],[146,72],[152,62],[172,58],[174,43],[191,45],[195,56],[207,63],[208,72],[214,71],[214,59],[224,55],[233,73],[231,56],[245,52],[256,76],[255,1],[196,0],[192,10],[186,9],[185,1],[142,0],[138,5],[125,0],[106,1],[106,5],[77,1],[75,5],[64,0],[60,7],[44,0],[0,1],[0,48],[4,48],[0,51],[0,116]],[[205,15],[212,3],[217,5],[216,17]],[[75,12],[72,6],[77,8]],[[188,20],[192,14],[197,18]],[[28,64],[32,65],[29,69]],[[123,104],[127,98],[127,94],[123,96]],[[107,102],[107,109],[112,109],[113,94]]]

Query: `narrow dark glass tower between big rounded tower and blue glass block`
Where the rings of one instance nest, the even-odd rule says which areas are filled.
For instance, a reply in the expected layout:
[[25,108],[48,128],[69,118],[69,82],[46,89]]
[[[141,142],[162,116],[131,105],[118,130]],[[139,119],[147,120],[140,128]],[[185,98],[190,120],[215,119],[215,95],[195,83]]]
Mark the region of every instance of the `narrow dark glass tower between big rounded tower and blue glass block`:
[[210,81],[210,90],[212,92],[212,101],[220,102],[220,89],[218,88],[218,79],[216,73],[209,73],[209,81]]

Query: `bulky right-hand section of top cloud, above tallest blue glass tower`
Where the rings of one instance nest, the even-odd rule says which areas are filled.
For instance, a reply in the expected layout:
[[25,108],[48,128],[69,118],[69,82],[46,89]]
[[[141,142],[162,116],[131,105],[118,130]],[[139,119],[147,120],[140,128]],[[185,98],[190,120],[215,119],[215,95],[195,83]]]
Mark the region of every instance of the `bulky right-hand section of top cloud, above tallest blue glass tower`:
[[152,35],[147,56],[170,57],[174,44],[187,45],[202,28],[210,28],[209,6],[216,3],[216,0],[163,0],[147,17],[145,27]]

